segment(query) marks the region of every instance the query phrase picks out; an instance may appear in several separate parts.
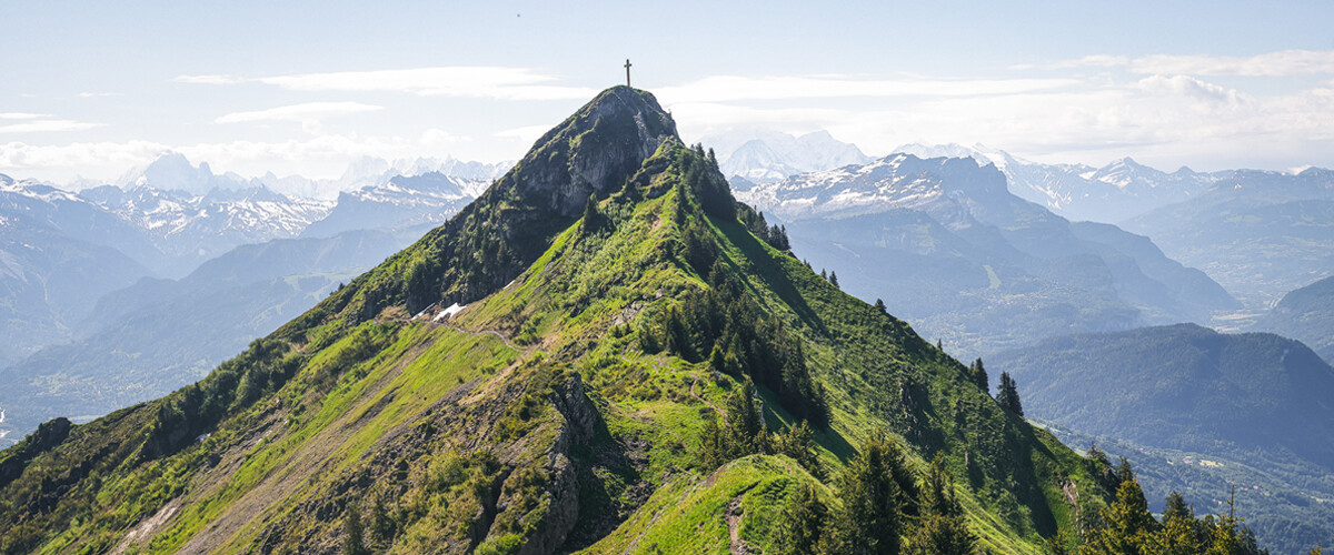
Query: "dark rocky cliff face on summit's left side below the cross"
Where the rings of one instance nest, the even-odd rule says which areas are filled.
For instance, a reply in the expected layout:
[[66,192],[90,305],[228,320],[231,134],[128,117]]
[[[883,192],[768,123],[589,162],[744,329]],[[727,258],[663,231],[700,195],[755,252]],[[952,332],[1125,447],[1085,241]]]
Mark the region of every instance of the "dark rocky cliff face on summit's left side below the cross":
[[329,307],[348,307],[359,319],[370,319],[392,305],[416,313],[436,302],[480,299],[528,268],[556,233],[579,218],[590,194],[606,197],[624,188],[667,141],[679,141],[676,124],[652,94],[628,87],[603,91],[542,136],[472,204],[423,237],[418,246],[426,257],[410,272],[371,277],[379,285],[362,298],[350,289],[335,294]]

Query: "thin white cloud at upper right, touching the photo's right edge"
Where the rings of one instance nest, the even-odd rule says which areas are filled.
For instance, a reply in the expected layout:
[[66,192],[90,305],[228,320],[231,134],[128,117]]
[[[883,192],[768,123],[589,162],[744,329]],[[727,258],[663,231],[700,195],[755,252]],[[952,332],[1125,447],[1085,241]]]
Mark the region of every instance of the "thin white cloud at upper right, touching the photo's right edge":
[[1050,64],[1047,69],[1125,67],[1131,73],[1287,77],[1334,73],[1334,51],[1279,51],[1254,56],[1217,55],[1094,55]]

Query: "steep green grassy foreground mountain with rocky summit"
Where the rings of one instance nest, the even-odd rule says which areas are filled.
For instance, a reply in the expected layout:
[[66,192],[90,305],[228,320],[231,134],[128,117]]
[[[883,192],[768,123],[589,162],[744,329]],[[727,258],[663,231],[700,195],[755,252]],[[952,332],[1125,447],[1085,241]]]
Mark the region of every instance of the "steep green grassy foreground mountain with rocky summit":
[[836,500],[783,455],[704,462],[744,375],[771,429],[828,422],[830,470],[875,430],[914,468],[943,457],[988,550],[1038,552],[1073,528],[1067,499],[1103,504],[1087,462],[968,369],[752,234],[672,128],[611,89],[200,383],[44,426],[0,454],[0,551],[764,548],[796,486]]

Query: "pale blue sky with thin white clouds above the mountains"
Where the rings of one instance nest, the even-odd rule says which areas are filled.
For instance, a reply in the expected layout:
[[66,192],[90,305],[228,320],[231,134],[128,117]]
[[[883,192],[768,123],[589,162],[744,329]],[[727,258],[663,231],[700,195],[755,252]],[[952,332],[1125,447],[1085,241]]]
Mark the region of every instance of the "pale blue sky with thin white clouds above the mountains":
[[1334,3],[827,4],[5,0],[0,172],[111,178],[167,149],[311,177],[516,158],[626,57],[691,141],[1334,166]]

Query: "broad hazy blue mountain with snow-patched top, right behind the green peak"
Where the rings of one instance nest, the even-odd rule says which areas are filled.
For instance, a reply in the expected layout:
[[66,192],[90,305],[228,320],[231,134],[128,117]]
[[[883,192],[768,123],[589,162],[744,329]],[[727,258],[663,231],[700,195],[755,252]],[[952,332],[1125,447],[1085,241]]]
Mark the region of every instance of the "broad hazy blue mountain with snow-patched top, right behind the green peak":
[[882,298],[967,357],[1043,337],[1207,321],[1239,307],[1146,237],[1070,222],[972,158],[892,154],[738,190],[787,226],[792,250]]

